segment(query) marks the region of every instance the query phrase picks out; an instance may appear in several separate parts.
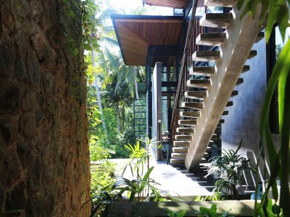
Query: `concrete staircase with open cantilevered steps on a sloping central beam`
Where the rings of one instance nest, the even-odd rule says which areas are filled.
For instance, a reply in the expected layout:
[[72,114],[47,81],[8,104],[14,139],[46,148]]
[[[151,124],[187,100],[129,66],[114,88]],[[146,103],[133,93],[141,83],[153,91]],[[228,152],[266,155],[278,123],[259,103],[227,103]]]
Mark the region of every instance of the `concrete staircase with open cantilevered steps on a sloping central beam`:
[[215,132],[220,132],[220,127],[217,126],[224,123],[222,116],[229,114],[226,107],[232,106],[231,97],[238,95],[238,91],[233,89],[244,82],[239,76],[250,70],[244,63],[257,55],[257,51],[251,50],[253,43],[264,37],[264,33],[259,32],[258,19],[248,16],[240,19],[240,11],[234,5],[234,0],[206,1],[206,6],[231,7],[233,10],[205,14],[200,19],[200,25],[204,27],[225,30],[222,33],[202,33],[196,38],[197,45],[219,48],[196,51],[192,55],[193,61],[210,62],[214,66],[194,66],[189,70],[190,76],[203,78],[186,81],[186,86],[195,87],[195,90],[184,92],[186,102],[182,103],[180,127],[177,127],[171,154],[173,165],[185,165],[192,170],[206,162],[214,141],[218,139]]

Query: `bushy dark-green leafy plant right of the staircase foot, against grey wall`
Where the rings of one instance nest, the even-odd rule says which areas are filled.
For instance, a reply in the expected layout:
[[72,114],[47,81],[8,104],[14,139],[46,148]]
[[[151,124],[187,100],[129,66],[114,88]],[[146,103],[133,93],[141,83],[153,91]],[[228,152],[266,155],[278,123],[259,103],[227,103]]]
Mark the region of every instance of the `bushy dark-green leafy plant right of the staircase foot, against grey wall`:
[[212,174],[220,174],[220,178],[215,182],[216,189],[223,191],[231,199],[238,198],[237,185],[244,184],[243,172],[248,170],[256,172],[256,167],[251,165],[250,160],[238,154],[242,147],[242,139],[238,148],[234,151],[229,149],[228,151],[223,149],[222,156],[215,156],[210,159],[208,174],[205,178]]

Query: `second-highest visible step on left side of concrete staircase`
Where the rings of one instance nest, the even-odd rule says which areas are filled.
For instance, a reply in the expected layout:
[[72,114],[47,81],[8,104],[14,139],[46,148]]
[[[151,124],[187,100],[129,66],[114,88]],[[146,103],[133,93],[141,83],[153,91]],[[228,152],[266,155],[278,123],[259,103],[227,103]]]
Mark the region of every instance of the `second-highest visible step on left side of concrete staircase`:
[[229,13],[209,13],[204,14],[200,19],[200,25],[211,28],[227,28],[233,19],[233,14]]

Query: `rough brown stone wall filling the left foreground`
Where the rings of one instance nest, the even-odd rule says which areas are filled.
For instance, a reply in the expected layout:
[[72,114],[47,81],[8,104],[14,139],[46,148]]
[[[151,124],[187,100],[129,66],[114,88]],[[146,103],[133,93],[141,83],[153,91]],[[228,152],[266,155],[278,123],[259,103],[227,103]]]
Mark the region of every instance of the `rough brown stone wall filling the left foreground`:
[[0,0],[0,216],[90,214],[80,10],[64,2]]

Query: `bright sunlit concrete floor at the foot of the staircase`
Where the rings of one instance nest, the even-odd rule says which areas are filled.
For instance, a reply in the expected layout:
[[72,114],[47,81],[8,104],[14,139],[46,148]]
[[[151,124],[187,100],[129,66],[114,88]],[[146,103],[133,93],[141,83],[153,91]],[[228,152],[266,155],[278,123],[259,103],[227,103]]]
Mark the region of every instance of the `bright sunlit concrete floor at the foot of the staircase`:
[[[111,159],[116,164],[116,174],[121,174],[124,165],[128,159]],[[206,172],[200,169],[195,174],[189,173],[185,168],[166,165],[166,162],[151,160],[150,167],[154,166],[151,178],[155,180],[159,189],[170,192],[172,196],[181,196],[182,198],[194,198],[195,196],[211,195],[214,188],[213,182],[204,178]],[[125,178],[133,179],[130,169],[126,169]]]

